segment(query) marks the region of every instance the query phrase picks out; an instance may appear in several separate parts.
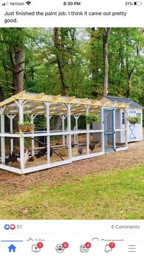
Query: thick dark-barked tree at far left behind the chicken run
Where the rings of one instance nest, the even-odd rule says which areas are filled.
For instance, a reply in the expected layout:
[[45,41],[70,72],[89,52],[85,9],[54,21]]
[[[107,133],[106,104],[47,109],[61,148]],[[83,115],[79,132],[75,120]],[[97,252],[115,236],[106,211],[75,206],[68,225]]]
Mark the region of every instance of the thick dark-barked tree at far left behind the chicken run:
[[[12,89],[13,94],[23,91],[23,77],[24,77],[24,32],[22,28],[9,28],[2,31],[2,43],[7,48],[7,54],[9,54],[9,65],[4,66],[12,71]],[[13,130],[18,131],[18,119],[16,116],[13,119]],[[14,139],[14,145],[19,145],[20,140],[18,138]]]

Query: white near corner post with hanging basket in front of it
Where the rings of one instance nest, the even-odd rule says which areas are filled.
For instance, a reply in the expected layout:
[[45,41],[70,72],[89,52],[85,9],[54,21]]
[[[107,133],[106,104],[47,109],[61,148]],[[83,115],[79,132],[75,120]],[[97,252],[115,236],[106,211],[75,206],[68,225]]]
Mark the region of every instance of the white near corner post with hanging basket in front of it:
[[[24,121],[23,100],[18,100],[18,106],[19,106],[19,122],[23,123],[23,121]],[[21,132],[20,132],[20,165],[21,165],[21,170],[23,173],[23,169],[24,169],[24,137],[23,137],[23,133],[21,133]]]

